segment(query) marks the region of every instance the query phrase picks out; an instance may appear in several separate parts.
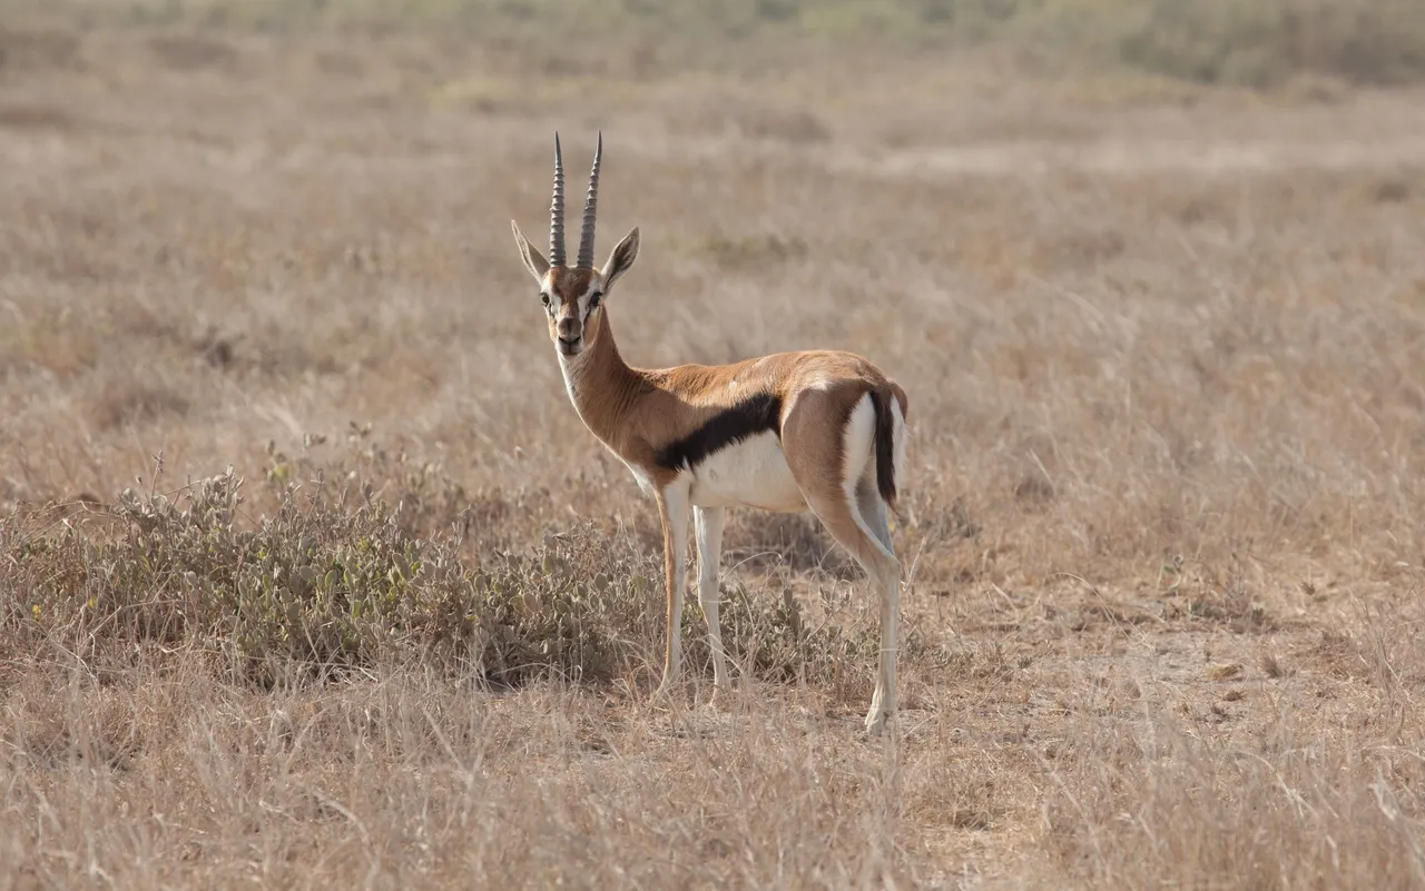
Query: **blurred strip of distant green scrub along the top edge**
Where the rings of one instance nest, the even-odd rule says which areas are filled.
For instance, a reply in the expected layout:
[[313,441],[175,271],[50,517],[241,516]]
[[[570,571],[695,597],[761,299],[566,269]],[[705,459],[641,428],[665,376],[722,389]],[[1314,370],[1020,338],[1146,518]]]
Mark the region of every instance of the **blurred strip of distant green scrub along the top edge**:
[[[459,40],[460,46],[486,41],[519,46],[532,71],[557,75],[608,73],[623,64],[617,60],[644,73],[684,65],[740,65],[748,44],[787,48],[878,44],[882,51],[895,47],[896,51],[933,53],[1000,44],[1020,50],[1022,58],[1036,60],[1032,64],[1042,71],[1062,70],[1070,61],[1100,68],[1126,64],[1200,84],[1254,88],[1275,87],[1297,75],[1328,75],[1365,85],[1425,80],[1425,3],[1418,0],[11,3],[20,4],[17,20],[24,19],[24,13],[43,13],[43,20],[214,34],[437,30]],[[589,43],[594,37],[597,40]],[[200,43],[202,46],[184,38],[174,46],[182,48],[185,57],[195,48],[204,53],[221,48],[221,41]],[[584,43],[594,48],[581,56],[579,47]],[[814,137],[815,130],[812,125]]]

